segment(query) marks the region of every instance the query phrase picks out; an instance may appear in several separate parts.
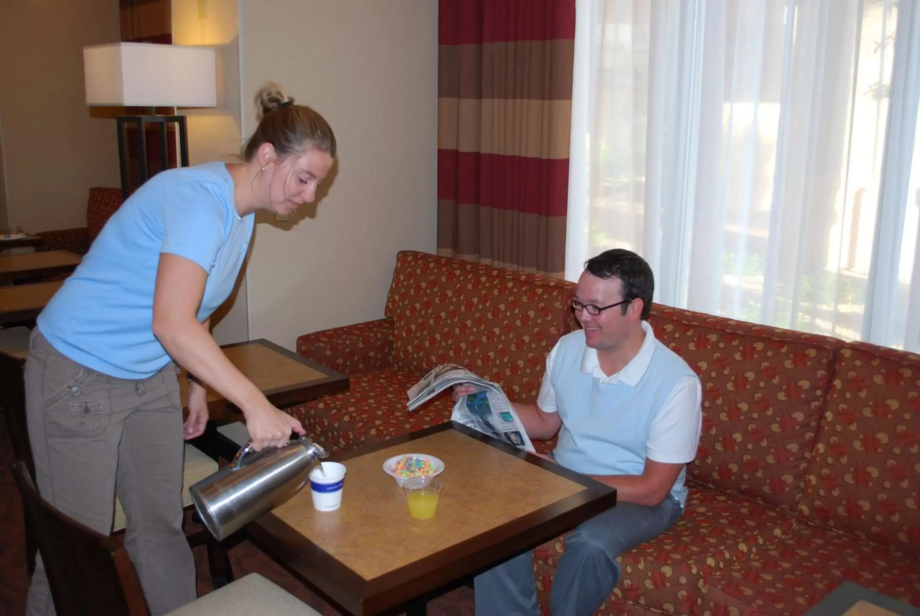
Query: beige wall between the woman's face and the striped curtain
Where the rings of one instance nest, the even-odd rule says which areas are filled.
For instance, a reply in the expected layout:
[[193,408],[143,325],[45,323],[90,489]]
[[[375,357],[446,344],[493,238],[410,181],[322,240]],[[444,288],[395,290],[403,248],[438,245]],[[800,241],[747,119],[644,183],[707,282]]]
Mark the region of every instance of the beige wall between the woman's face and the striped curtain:
[[339,144],[318,205],[256,230],[249,335],[293,349],[300,334],[382,317],[397,250],[435,250],[438,3],[241,3],[243,134],[270,79]]

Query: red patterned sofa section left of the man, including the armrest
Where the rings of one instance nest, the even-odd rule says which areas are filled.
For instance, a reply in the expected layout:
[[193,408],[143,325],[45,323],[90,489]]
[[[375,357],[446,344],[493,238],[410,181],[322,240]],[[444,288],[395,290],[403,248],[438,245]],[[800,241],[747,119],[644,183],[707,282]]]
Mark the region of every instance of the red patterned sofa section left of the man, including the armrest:
[[349,392],[294,407],[317,442],[360,447],[450,418],[443,395],[406,412],[407,390],[445,362],[535,401],[546,354],[571,327],[565,281],[402,251],[385,319],[297,339],[297,351],[351,378]]

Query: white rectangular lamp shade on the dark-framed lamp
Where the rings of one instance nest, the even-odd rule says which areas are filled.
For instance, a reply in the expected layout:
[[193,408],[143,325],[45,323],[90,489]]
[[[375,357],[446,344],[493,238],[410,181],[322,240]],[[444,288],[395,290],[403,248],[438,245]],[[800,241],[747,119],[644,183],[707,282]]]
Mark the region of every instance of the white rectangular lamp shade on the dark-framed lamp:
[[120,42],[83,48],[86,104],[216,107],[211,47]]

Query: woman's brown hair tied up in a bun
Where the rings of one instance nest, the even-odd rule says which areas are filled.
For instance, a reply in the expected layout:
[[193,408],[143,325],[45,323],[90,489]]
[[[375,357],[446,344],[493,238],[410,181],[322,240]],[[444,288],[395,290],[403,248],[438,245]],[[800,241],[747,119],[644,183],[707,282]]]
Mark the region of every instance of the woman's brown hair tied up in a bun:
[[256,93],[259,126],[243,146],[241,157],[249,162],[256,157],[259,145],[271,144],[279,157],[303,150],[304,144],[336,157],[336,135],[323,116],[293,99],[271,82]]

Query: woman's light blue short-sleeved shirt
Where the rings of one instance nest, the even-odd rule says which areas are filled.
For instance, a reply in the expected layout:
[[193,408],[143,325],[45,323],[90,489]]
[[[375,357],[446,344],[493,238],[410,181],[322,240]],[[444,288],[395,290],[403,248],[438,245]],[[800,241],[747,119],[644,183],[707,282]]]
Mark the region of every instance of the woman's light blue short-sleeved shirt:
[[170,361],[153,331],[160,254],[208,273],[202,322],[233,290],[255,215],[241,217],[224,163],[156,174],[109,218],[42,310],[38,326],[61,354],[116,378],[148,378]]

